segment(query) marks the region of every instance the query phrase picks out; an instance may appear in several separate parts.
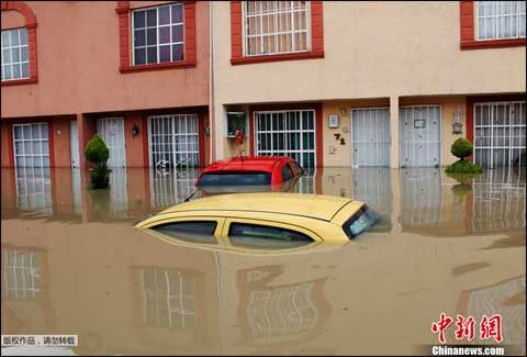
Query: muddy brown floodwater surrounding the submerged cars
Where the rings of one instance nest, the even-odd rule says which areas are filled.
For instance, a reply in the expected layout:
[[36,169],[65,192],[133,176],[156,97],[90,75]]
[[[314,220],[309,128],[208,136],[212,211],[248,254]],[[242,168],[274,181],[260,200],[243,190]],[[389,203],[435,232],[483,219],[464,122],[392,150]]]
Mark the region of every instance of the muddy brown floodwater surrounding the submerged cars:
[[438,344],[441,312],[498,313],[525,354],[525,168],[310,172],[280,190],[362,200],[380,223],[266,256],[133,227],[192,193],[198,170],[115,169],[102,191],[78,170],[1,175],[2,334],[75,334],[79,355],[407,355]]

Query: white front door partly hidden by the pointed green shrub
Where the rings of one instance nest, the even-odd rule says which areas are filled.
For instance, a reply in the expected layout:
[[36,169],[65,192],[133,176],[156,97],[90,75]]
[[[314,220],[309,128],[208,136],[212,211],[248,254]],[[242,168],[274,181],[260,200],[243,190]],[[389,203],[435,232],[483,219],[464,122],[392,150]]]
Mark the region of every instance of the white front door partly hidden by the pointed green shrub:
[[124,148],[124,119],[100,118],[97,122],[97,132],[106,143],[110,150],[109,167],[125,167],[126,157]]

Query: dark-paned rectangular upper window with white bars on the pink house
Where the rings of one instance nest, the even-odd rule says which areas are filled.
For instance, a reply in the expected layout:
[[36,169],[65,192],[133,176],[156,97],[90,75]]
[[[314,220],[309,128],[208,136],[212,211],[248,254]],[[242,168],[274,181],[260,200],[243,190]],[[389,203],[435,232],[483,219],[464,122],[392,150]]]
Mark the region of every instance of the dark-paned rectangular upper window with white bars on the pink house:
[[134,65],[183,60],[182,3],[134,10],[132,29]]

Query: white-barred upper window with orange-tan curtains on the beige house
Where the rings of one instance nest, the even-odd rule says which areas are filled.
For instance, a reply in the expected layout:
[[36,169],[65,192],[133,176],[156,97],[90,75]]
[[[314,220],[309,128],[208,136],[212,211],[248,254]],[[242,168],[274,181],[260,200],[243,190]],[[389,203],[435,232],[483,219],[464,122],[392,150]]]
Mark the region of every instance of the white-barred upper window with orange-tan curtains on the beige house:
[[244,1],[247,56],[307,52],[309,1]]

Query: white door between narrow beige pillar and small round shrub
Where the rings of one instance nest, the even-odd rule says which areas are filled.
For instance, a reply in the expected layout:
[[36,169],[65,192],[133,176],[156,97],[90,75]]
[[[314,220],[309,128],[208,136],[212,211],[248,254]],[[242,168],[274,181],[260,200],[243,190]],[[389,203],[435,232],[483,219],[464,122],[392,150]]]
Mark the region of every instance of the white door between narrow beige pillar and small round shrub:
[[441,116],[440,105],[401,107],[401,167],[441,164]]

